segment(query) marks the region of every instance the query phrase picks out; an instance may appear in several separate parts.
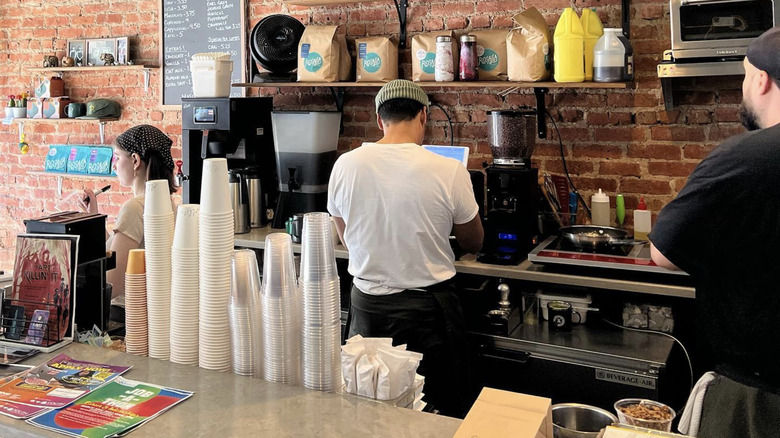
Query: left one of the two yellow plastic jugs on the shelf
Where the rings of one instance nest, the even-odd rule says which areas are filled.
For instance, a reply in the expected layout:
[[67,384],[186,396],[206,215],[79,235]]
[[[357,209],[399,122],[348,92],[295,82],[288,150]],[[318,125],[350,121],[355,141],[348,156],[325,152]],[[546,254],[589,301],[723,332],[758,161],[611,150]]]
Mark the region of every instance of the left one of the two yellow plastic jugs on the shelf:
[[585,80],[585,32],[572,8],[566,8],[555,25],[553,36],[553,75],[555,82]]

